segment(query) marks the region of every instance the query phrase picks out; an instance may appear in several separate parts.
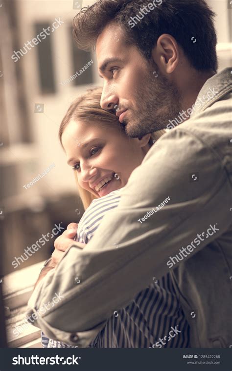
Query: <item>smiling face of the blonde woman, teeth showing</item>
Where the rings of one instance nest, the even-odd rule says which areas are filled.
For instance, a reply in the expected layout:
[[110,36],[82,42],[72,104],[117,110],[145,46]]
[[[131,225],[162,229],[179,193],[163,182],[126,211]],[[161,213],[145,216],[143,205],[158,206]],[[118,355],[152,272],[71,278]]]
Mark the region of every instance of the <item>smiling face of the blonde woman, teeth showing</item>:
[[70,121],[62,135],[68,163],[79,185],[97,197],[126,185],[149,150],[150,134],[129,138],[119,126]]

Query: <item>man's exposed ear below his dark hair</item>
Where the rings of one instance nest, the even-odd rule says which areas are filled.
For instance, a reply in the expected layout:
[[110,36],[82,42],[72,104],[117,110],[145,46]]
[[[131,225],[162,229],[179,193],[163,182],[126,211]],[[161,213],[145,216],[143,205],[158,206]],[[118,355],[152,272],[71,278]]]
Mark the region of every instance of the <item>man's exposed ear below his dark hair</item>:
[[152,58],[163,74],[171,74],[180,61],[180,48],[171,35],[164,33],[157,40]]

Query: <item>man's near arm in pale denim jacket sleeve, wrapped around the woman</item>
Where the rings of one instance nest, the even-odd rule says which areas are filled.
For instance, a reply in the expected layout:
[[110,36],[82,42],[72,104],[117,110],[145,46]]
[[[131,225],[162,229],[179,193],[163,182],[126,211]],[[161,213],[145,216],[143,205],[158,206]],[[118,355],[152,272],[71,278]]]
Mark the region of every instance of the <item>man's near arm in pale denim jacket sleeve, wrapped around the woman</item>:
[[[178,266],[175,256],[193,257],[220,237],[231,224],[231,195],[228,174],[213,150],[180,128],[165,134],[132,173],[119,206],[103,218],[88,247],[75,243],[37,286],[28,303],[33,311],[56,291],[65,298],[36,325],[73,344],[71,333],[81,338],[111,317],[169,271],[169,261]],[[74,277],[80,277],[78,285]]]

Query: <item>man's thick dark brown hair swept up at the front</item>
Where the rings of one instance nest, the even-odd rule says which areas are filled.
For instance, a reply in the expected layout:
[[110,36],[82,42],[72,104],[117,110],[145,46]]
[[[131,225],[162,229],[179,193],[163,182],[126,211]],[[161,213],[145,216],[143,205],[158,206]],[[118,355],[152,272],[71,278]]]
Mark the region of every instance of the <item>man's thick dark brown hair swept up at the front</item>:
[[[156,3],[154,10],[131,27],[132,18],[142,14],[140,8],[148,3]],[[158,38],[168,33],[175,38],[196,70],[216,72],[214,16],[205,0],[100,0],[75,16],[73,35],[78,47],[89,51],[95,47],[103,29],[115,22],[125,30],[125,42],[136,45],[149,60]]]

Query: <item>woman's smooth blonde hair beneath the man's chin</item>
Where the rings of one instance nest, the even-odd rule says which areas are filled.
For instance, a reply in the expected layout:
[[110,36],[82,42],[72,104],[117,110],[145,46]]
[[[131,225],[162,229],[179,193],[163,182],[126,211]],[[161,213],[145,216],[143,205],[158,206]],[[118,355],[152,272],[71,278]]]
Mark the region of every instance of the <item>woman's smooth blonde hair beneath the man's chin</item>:
[[[62,135],[70,121],[81,120],[86,123],[97,121],[97,123],[101,122],[101,125],[105,127],[116,125],[119,130],[124,132],[124,126],[119,122],[115,111],[113,109],[106,111],[101,108],[101,94],[102,87],[88,89],[85,94],[81,95],[72,102],[60,124],[59,139],[62,147]],[[149,141],[150,146],[152,146],[153,143],[164,133],[165,130],[159,130],[157,132],[151,133],[151,138]],[[91,202],[97,197],[94,196],[91,192],[82,188],[78,183],[76,171],[74,172],[74,174],[79,196],[82,200],[84,209],[86,210],[90,206]]]

